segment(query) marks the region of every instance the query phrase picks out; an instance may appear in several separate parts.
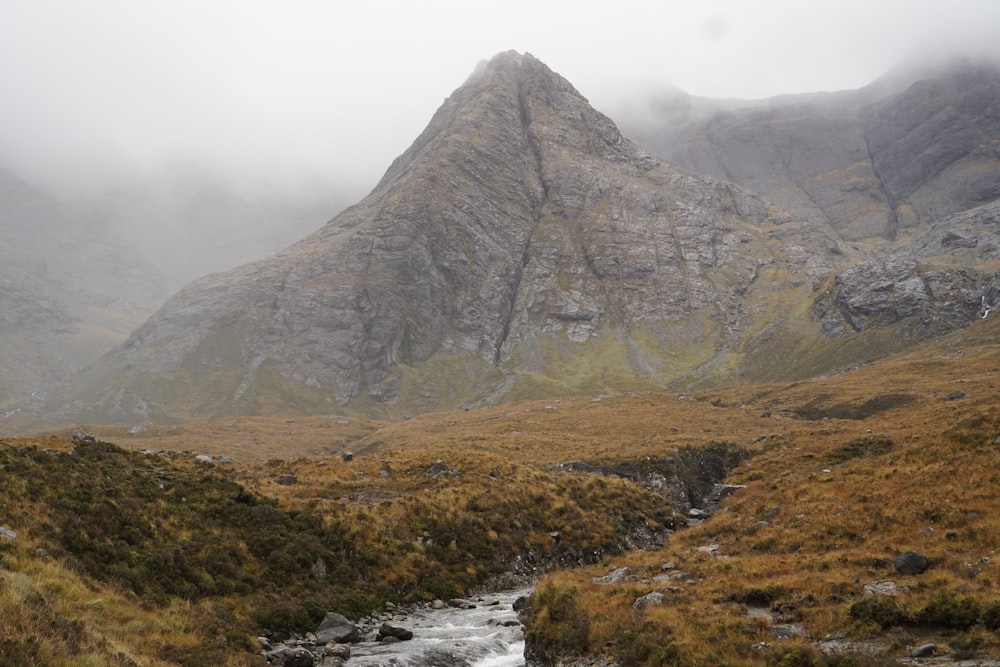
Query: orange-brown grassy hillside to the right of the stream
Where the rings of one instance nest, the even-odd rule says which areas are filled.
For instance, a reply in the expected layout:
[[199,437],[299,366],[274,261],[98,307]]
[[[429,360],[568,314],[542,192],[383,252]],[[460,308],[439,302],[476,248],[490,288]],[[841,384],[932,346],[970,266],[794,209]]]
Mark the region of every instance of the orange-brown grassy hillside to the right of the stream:
[[[531,659],[1000,659],[997,342],[995,323],[976,326],[930,354],[719,393],[766,408],[774,426],[747,432],[751,458],[727,480],[745,488],[664,549],[541,582],[526,615]],[[900,570],[901,558],[927,569]]]

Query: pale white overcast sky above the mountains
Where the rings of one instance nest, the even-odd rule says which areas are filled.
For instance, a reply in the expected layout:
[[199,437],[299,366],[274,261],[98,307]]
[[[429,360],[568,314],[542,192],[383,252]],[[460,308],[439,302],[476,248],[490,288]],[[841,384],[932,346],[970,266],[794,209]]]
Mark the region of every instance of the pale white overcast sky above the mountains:
[[666,85],[855,88],[914,56],[996,51],[998,29],[998,0],[0,0],[0,165],[89,183],[204,162],[366,192],[500,51],[610,113]]

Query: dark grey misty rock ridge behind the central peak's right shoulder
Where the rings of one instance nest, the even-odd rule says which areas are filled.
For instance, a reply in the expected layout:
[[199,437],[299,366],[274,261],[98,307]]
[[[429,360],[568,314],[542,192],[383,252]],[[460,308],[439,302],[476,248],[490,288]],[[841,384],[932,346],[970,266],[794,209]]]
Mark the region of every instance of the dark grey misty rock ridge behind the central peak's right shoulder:
[[904,230],[1000,197],[1000,68],[957,62],[858,91],[753,102],[674,92],[626,132],[843,238]]

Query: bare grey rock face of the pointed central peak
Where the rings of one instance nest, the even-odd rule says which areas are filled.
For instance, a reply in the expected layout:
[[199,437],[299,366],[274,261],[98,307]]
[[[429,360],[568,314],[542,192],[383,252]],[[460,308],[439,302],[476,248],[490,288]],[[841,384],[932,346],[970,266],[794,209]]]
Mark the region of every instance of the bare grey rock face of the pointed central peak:
[[[662,382],[688,340],[703,349],[687,369],[735,339],[771,254],[767,220],[746,190],[636,148],[532,56],[501,54],[367,198],[271,259],[182,290],[92,371],[89,397],[111,418],[167,417],[157,404],[187,417],[136,380],[184,373],[217,390],[184,396],[195,414],[258,411],[291,385],[307,409],[393,403],[401,389],[429,395],[421,409],[509,388],[504,373],[561,379],[601,345],[614,358],[588,374]],[[403,388],[432,359],[454,374]]]

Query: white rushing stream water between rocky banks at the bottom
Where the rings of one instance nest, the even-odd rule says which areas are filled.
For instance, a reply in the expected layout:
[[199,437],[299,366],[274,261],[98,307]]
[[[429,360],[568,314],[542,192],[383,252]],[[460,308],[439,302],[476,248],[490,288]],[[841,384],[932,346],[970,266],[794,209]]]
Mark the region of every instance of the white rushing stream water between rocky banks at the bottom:
[[[361,642],[351,647],[348,667],[508,667],[524,664],[524,634],[514,601],[530,590],[472,599],[474,609],[420,609],[392,625],[413,631],[409,641]],[[513,625],[505,625],[513,624]]]

